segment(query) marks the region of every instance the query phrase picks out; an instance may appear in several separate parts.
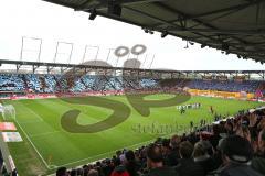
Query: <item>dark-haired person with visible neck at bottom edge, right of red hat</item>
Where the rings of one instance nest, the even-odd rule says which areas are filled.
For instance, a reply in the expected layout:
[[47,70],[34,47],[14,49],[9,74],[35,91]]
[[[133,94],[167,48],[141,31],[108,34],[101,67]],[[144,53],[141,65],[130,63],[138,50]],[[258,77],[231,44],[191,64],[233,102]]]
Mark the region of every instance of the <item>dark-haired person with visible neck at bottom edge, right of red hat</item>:
[[163,165],[162,150],[157,144],[150,144],[147,147],[147,176],[178,176],[172,168]]

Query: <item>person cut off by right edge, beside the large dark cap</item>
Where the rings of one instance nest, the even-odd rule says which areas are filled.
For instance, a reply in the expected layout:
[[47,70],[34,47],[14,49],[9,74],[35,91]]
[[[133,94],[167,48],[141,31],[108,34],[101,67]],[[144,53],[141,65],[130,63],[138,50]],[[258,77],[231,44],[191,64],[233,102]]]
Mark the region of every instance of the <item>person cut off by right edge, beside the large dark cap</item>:
[[258,134],[258,144],[255,157],[252,160],[252,168],[265,175],[265,130]]

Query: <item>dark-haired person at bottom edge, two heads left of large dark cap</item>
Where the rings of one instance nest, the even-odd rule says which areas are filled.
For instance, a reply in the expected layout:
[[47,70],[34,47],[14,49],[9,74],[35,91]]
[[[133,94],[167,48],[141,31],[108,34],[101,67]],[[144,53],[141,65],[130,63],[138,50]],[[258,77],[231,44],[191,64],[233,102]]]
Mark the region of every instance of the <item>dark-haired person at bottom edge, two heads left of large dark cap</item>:
[[176,169],[180,176],[204,176],[204,170],[200,164],[192,158],[193,145],[189,141],[180,143],[180,161]]

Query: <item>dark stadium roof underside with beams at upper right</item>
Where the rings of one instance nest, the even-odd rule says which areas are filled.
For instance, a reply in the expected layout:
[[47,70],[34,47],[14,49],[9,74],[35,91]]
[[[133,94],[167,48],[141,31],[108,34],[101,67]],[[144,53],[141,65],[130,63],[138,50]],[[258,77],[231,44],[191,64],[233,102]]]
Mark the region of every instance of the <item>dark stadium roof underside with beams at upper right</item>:
[[44,0],[265,63],[264,0]]

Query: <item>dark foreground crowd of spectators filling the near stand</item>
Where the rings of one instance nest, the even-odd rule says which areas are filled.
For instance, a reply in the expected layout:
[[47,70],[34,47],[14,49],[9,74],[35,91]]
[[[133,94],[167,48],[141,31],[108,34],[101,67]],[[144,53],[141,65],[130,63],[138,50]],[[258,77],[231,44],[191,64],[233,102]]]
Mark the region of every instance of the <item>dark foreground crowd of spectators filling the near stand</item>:
[[265,175],[264,116],[264,109],[240,111],[219,124],[200,127],[190,134],[171,139],[157,139],[136,151],[124,148],[112,158],[80,168],[62,167],[56,175],[262,176]]

